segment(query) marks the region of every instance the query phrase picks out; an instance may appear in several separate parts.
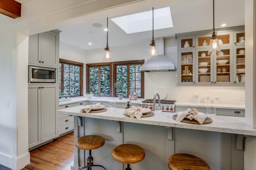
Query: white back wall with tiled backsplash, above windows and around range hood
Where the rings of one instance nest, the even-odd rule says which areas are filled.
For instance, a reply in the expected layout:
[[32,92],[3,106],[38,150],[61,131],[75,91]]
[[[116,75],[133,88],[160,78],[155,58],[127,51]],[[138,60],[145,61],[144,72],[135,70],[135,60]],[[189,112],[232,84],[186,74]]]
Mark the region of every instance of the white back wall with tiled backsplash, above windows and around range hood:
[[[110,47],[112,61],[147,60],[149,43],[133,44],[127,46]],[[103,62],[104,49],[86,50],[86,63]],[[167,56],[177,68],[177,41],[175,39],[165,40],[165,56]],[[218,96],[221,103],[244,104],[238,101],[239,96],[244,96],[244,87],[224,86],[176,86],[177,71],[170,72],[146,72],[145,73],[145,98],[152,98],[155,92],[166,89],[169,100],[192,102],[193,94],[200,94],[201,102],[203,96]],[[213,101],[212,101],[213,102]]]

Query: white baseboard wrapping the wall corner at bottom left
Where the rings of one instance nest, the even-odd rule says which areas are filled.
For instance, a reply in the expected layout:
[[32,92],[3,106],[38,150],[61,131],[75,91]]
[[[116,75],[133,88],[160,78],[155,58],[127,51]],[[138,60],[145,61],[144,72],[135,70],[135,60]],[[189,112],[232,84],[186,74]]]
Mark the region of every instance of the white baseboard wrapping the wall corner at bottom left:
[[0,164],[12,170],[20,170],[30,163],[30,153],[24,153],[18,157],[0,152]]

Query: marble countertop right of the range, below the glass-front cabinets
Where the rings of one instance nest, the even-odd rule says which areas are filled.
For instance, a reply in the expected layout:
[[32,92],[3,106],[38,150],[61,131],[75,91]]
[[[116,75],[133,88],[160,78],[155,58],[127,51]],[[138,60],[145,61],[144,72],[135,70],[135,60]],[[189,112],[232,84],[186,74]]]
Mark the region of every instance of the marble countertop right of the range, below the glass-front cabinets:
[[224,109],[245,109],[245,105],[239,104],[215,104],[215,103],[190,103],[190,102],[176,102],[175,106],[187,106],[187,107],[207,107],[209,105],[215,106],[216,108],[224,108]]

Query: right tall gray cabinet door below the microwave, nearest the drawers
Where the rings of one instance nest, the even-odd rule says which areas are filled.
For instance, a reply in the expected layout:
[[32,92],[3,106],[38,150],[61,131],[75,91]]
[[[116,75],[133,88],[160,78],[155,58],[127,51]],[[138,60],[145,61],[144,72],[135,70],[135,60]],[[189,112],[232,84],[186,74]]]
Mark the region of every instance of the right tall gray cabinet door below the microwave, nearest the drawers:
[[58,85],[42,85],[41,88],[41,142],[58,136],[58,116],[56,110]]

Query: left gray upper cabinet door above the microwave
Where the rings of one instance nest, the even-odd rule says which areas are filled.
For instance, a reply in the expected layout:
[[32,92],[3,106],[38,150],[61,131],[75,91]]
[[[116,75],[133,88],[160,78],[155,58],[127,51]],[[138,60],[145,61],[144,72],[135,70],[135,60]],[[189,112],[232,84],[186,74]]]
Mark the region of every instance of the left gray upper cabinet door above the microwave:
[[28,36],[28,63],[41,64],[41,34]]

